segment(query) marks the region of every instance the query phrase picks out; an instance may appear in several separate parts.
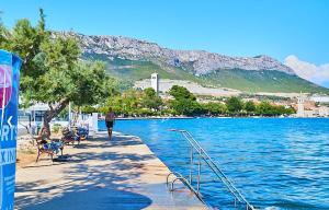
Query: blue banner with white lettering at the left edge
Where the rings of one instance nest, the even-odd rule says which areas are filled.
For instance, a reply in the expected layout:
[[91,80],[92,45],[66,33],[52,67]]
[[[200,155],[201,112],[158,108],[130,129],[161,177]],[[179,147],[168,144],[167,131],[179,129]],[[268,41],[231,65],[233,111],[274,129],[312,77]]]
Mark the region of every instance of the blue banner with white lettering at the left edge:
[[0,210],[14,209],[21,60],[0,50]]

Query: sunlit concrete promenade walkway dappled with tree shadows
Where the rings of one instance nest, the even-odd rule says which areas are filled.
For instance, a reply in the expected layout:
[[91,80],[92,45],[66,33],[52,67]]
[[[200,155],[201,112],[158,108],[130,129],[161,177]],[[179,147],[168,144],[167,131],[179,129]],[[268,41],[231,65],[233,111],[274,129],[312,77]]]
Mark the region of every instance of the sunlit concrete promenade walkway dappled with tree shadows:
[[137,137],[100,133],[66,147],[70,160],[44,156],[16,172],[15,208],[26,210],[206,209],[189,190],[169,192],[168,167]]

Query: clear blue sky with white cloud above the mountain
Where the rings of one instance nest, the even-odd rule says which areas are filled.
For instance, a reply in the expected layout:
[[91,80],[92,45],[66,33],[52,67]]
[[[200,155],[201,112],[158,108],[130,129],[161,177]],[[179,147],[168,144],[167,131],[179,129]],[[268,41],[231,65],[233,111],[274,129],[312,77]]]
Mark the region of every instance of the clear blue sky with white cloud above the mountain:
[[35,23],[38,8],[52,30],[228,56],[268,55],[329,86],[328,0],[0,0],[8,27],[22,18]]

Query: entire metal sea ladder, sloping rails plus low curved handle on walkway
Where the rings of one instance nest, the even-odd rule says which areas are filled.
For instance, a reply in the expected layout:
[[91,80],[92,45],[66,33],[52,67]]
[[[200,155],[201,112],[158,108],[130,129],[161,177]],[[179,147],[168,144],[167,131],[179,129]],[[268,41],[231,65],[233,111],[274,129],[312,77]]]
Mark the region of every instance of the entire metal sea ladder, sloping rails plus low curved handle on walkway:
[[[234,205],[237,207],[237,203],[240,203],[246,207],[246,210],[254,210],[254,207],[250,205],[250,202],[245,198],[245,196],[235,187],[232,182],[224,174],[224,172],[216,165],[216,163],[212,160],[212,158],[206,153],[206,151],[198,144],[198,142],[192,137],[192,135],[186,130],[180,129],[169,129],[169,131],[180,132],[190,144],[190,173],[189,177],[184,177],[180,173],[170,173],[167,176],[167,185],[170,186],[169,190],[174,190],[174,183],[177,180],[181,180],[183,184],[188,186],[188,188],[196,195],[196,197],[205,203],[203,197],[200,192],[200,184],[201,184],[201,165],[202,161],[206,163],[209,170],[216,175],[216,177],[222,180],[224,186],[228,189],[228,191],[234,197]],[[194,189],[193,182],[193,164],[194,164],[194,153],[197,154],[197,177],[196,177],[196,189]],[[169,180],[169,178],[173,176],[173,180]]]

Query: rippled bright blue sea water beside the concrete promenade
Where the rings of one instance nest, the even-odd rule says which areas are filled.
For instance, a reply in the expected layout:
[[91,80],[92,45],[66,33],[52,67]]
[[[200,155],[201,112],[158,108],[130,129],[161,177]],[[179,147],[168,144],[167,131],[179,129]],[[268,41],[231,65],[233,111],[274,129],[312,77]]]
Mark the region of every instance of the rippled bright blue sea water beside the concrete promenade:
[[[171,171],[188,175],[188,143],[170,128],[189,130],[257,208],[329,209],[329,119],[117,120],[114,130],[139,136]],[[206,201],[231,209],[232,197],[202,171]]]

